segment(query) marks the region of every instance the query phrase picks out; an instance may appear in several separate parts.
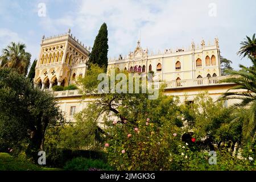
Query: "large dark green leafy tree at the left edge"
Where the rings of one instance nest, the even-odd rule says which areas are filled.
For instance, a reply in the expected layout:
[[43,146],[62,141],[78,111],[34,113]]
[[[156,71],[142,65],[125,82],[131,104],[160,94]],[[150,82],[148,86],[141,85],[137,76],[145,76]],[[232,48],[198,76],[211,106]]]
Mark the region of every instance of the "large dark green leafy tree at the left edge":
[[50,93],[34,89],[30,80],[10,69],[0,69],[0,108],[0,142],[26,148],[34,158],[43,150],[47,127],[64,121]]

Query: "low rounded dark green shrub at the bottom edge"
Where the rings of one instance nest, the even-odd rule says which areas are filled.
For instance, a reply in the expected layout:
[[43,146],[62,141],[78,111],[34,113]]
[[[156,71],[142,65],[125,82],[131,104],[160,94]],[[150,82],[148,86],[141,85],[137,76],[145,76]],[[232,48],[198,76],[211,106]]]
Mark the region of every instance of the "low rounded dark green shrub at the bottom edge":
[[68,171],[112,170],[109,164],[105,163],[103,160],[86,159],[81,157],[74,158],[67,162],[64,166],[64,169]]

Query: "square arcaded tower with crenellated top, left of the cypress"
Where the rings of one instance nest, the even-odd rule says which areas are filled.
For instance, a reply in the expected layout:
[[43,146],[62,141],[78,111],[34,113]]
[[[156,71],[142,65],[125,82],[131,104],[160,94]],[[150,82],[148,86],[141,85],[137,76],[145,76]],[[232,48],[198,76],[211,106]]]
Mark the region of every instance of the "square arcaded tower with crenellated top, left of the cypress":
[[85,75],[89,51],[84,44],[67,33],[49,38],[42,37],[35,68],[35,87],[51,89],[54,85],[68,86],[77,77]]

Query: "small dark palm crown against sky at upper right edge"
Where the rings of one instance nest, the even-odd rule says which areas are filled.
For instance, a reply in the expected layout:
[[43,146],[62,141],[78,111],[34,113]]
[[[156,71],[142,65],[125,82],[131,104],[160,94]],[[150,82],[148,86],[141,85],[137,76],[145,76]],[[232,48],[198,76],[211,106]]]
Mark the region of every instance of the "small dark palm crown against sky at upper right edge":
[[245,57],[246,55],[256,57],[256,39],[255,34],[253,34],[253,38],[250,39],[249,36],[246,36],[247,39],[245,41],[241,42],[240,44],[242,47],[237,52],[237,55],[243,55]]

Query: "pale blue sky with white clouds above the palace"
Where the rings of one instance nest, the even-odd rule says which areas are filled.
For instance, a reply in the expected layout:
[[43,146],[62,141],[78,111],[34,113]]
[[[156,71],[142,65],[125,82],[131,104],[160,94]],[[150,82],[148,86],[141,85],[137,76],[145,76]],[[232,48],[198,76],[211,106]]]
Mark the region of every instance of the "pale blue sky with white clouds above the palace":
[[[38,15],[39,3],[46,5],[46,16]],[[63,34],[71,28],[76,38],[92,47],[106,22],[109,57],[127,55],[139,37],[142,47],[157,52],[188,47],[192,40],[213,42],[218,36],[221,55],[238,69],[238,64],[250,65],[236,55],[240,42],[256,32],[255,0],[0,0],[0,5],[0,49],[11,41],[23,42],[32,60],[38,57],[42,35]]]

